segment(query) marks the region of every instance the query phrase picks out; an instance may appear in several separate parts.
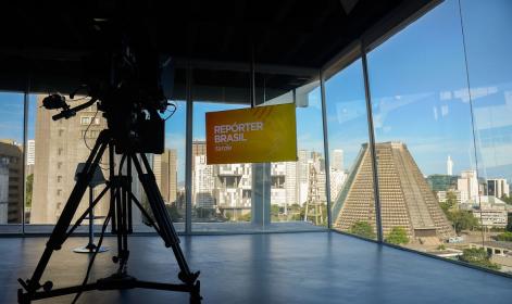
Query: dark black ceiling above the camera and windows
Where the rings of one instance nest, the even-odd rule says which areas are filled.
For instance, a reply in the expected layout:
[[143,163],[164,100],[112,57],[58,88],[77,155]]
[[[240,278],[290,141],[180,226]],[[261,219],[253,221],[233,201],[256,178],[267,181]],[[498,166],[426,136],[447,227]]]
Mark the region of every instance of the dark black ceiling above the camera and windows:
[[[0,89],[24,90],[30,79],[30,88],[38,91],[76,86],[80,59],[101,47],[98,26],[112,21],[138,28],[149,43],[176,59],[249,65],[253,50],[258,65],[320,68],[400,7],[420,10],[430,1],[12,2],[2,4],[0,18]],[[198,83],[218,81],[202,74]]]

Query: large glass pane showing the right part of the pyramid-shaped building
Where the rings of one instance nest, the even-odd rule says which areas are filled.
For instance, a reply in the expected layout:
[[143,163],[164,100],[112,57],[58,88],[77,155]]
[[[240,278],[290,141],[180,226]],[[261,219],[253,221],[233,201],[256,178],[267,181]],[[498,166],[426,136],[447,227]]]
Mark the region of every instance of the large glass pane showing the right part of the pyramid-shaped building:
[[[474,142],[482,137],[474,137],[473,122],[478,126],[486,110],[470,99],[459,2],[442,2],[372,50],[367,64],[384,241],[499,268],[475,252],[484,250],[482,223],[496,214],[478,204],[488,185],[476,165]],[[495,90],[486,84],[483,99]]]

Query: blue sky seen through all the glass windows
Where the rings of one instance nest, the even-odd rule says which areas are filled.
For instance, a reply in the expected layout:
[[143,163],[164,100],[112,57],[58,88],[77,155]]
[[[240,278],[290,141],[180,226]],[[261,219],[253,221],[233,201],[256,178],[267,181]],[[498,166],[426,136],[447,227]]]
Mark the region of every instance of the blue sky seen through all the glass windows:
[[[480,176],[512,179],[512,1],[462,0],[462,17],[473,102],[471,113],[458,1],[445,1],[367,54],[376,141],[408,144],[425,175],[475,168],[473,125]],[[0,93],[0,138],[23,139],[23,94]],[[344,149],[349,168],[367,142],[361,61],[326,81],[329,149]],[[35,100],[29,132],[34,138]],[[166,123],[166,145],[178,151],[184,179],[184,102]],[[204,139],[204,114],[238,109],[196,102],[193,139]],[[297,109],[299,149],[323,151],[320,90]]]

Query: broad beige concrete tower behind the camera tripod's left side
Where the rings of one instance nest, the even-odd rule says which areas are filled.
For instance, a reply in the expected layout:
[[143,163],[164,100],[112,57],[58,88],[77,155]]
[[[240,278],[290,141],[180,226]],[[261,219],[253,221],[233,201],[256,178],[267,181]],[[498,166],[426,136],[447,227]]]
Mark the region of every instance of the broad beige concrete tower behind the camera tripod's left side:
[[[53,122],[52,111],[45,110],[42,96],[37,99],[34,189],[30,224],[54,224],[75,186],[77,164],[85,162],[99,132],[107,127],[107,121],[97,112],[96,104],[77,113],[70,119]],[[80,100],[77,104],[83,103]],[[73,106],[73,101],[70,101]],[[86,129],[88,128],[87,132]],[[108,153],[103,155],[102,167],[108,167]],[[103,186],[95,189],[95,197]],[[82,200],[75,218],[88,206],[88,195]],[[96,215],[107,215],[109,194],[97,205]]]

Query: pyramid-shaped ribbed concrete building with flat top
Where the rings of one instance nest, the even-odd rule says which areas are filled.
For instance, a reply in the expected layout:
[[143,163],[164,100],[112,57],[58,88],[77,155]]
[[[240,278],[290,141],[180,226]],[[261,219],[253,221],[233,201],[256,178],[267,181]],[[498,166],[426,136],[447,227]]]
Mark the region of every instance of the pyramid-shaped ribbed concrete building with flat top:
[[[378,157],[383,232],[402,227],[411,238],[447,239],[454,235],[434,192],[428,187],[414,159],[401,142],[376,144]],[[335,225],[345,231],[357,221],[375,227],[375,200],[372,161],[367,144],[355,161],[354,169],[335,202]]]

